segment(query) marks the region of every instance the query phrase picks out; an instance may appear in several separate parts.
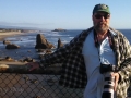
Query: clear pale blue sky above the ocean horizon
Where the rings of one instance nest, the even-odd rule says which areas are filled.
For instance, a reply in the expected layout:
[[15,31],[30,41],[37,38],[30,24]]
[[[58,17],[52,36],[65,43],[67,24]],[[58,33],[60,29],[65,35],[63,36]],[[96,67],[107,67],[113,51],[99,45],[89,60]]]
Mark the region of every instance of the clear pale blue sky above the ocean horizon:
[[98,3],[109,5],[112,28],[131,28],[131,0],[0,0],[0,25],[86,29]]

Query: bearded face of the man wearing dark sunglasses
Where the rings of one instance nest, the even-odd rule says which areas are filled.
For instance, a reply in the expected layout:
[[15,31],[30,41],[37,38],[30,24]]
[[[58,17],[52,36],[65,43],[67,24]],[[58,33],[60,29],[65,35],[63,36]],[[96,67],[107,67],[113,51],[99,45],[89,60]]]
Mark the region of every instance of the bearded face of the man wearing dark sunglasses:
[[93,16],[94,28],[99,32],[107,32],[109,28],[110,14],[105,12],[94,13]]

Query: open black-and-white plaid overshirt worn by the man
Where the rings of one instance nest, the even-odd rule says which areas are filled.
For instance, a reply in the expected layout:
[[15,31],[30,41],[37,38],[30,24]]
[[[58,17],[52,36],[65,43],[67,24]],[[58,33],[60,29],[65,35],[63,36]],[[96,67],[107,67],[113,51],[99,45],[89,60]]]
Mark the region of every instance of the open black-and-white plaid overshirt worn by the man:
[[[69,44],[41,60],[43,63],[62,63],[62,71],[59,84],[71,88],[82,88],[87,84],[87,75],[82,56],[83,42],[93,27],[83,30],[80,35],[74,37]],[[131,49],[130,42],[122,35],[122,33],[110,28],[115,36],[112,36],[114,52],[116,56],[116,64],[119,69],[120,81],[117,87],[117,98],[126,98],[127,89],[130,85],[131,76]]]

